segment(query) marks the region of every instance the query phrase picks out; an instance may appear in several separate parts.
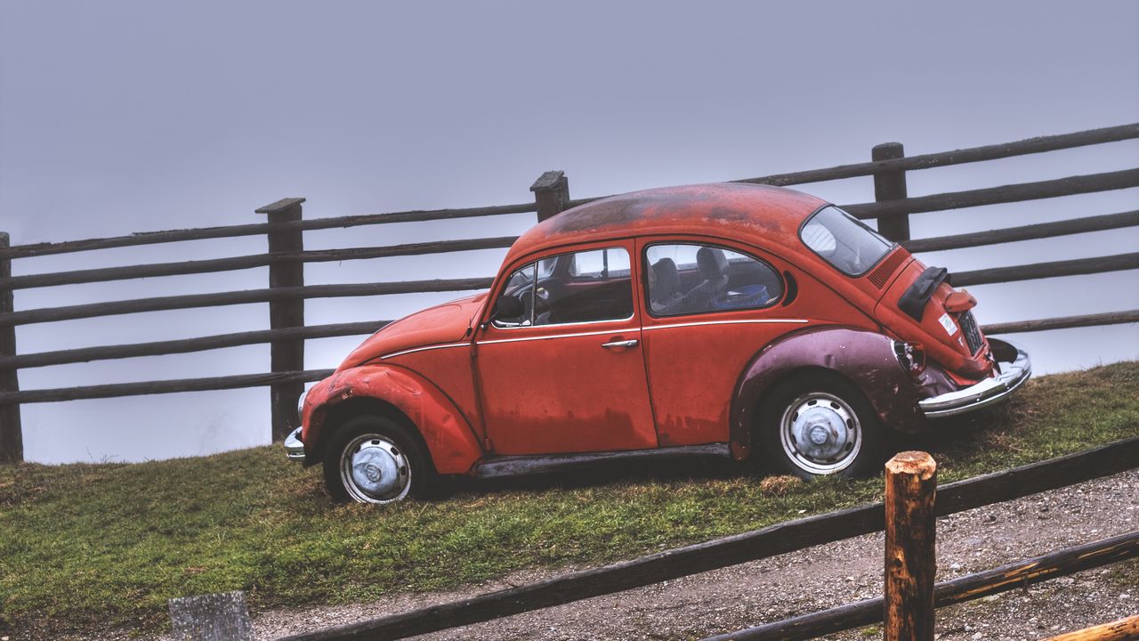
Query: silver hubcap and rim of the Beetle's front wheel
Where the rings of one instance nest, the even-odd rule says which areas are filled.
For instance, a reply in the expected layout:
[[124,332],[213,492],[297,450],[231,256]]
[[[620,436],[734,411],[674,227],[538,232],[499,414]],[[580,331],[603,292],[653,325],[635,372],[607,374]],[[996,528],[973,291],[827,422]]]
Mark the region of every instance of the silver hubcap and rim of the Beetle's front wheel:
[[361,435],[341,453],[341,480],[360,503],[390,503],[408,495],[411,465],[386,436]]

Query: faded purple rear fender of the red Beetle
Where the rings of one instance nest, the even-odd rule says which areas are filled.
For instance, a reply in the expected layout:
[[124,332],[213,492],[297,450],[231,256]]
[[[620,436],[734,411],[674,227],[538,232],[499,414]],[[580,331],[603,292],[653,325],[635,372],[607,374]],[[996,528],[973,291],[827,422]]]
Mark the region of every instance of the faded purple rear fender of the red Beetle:
[[834,325],[810,327],[769,343],[740,375],[729,430],[735,459],[752,454],[755,414],[771,387],[810,368],[827,370],[854,383],[886,425],[907,432],[920,427],[920,388],[902,370],[888,336]]

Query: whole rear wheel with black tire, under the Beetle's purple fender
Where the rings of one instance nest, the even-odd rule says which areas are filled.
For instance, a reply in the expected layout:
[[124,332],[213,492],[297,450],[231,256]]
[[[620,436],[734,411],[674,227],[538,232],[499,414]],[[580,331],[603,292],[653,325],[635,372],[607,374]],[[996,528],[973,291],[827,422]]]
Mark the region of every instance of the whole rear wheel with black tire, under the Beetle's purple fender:
[[884,425],[866,396],[821,372],[778,383],[760,412],[759,443],[768,469],[811,479],[876,473]]

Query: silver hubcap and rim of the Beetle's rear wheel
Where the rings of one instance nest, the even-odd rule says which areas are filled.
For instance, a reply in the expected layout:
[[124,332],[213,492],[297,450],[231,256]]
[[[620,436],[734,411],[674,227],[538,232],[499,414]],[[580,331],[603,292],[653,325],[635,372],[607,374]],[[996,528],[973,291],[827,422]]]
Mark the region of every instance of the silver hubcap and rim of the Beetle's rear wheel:
[[862,425],[845,400],[812,391],[787,406],[779,424],[779,441],[795,466],[812,474],[834,474],[858,456]]

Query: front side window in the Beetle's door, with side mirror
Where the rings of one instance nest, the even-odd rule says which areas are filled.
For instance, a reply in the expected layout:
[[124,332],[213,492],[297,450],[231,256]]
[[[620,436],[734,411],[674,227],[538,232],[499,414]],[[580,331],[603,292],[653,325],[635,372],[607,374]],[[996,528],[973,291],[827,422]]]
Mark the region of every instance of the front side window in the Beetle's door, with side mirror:
[[[506,298],[522,303],[502,303]],[[515,270],[495,301],[497,327],[623,320],[633,315],[629,252],[606,248],[546,258]]]

